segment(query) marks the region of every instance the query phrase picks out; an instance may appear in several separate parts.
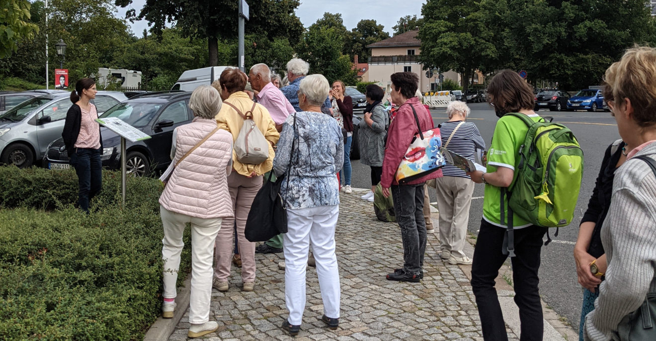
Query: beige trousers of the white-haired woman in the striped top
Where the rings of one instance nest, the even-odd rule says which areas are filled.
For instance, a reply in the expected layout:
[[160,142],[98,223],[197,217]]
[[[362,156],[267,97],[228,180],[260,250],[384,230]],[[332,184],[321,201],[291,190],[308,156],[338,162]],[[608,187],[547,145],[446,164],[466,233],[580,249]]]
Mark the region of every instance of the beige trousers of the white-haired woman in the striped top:
[[453,256],[464,257],[462,249],[469,224],[474,182],[461,176],[443,176],[436,179],[436,184],[441,249],[451,252]]

